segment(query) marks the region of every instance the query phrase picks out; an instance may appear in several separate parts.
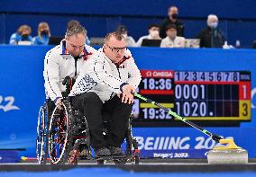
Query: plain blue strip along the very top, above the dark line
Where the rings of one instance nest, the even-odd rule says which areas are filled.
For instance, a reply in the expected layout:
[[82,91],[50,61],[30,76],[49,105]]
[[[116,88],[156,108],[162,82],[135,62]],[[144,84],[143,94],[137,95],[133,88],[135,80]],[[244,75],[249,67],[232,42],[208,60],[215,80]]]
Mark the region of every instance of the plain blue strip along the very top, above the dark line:
[[253,0],[2,0],[0,12],[164,16],[172,4],[180,8],[182,17],[205,18],[215,11],[224,18],[256,18]]

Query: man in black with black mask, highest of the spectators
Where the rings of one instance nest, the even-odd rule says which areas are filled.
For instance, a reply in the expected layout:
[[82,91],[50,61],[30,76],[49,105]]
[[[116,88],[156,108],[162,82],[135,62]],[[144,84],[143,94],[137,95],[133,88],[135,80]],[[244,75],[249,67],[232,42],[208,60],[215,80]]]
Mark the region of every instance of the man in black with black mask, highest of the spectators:
[[178,7],[170,6],[168,10],[168,17],[160,24],[160,37],[166,37],[166,27],[169,24],[174,24],[177,29],[177,35],[184,37],[184,24],[178,20]]

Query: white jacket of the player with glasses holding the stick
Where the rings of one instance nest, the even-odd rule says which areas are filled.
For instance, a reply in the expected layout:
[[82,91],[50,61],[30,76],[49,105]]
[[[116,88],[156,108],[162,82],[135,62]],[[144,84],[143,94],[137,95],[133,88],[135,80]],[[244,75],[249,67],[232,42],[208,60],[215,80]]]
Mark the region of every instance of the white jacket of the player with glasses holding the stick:
[[123,59],[114,64],[105,56],[103,49],[99,49],[82,67],[80,75],[69,96],[94,92],[102,102],[108,101],[116,93],[122,93],[124,84],[138,87],[142,80],[140,70],[134,63],[130,50],[126,50]]

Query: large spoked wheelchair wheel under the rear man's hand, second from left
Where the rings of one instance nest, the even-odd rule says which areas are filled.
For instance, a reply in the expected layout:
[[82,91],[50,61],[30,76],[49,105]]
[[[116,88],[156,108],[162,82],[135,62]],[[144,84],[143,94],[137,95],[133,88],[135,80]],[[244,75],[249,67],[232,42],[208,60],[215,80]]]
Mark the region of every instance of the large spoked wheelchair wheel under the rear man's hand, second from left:
[[[58,107],[61,107],[59,109]],[[68,101],[59,103],[52,112],[49,126],[49,155],[51,164],[65,164],[69,155],[71,107]]]

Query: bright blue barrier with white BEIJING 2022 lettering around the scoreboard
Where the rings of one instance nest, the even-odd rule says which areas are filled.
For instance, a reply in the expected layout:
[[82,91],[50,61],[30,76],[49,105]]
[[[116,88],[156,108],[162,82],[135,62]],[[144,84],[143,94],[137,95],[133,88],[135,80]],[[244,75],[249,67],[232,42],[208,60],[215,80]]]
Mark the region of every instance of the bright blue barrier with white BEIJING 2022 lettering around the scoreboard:
[[[37,114],[44,102],[43,58],[49,49],[0,46],[0,149],[26,148],[23,155],[35,156]],[[256,104],[254,50],[140,48],[131,51],[140,69],[251,71],[251,99],[252,104]],[[209,129],[224,137],[233,137],[239,146],[249,151],[250,157],[256,157],[256,144],[251,140],[256,132],[254,107],[251,115],[251,122],[242,123],[240,128]],[[173,155],[181,157],[203,157],[206,150],[215,145],[193,128],[134,128],[134,136],[138,137],[142,153],[147,156],[174,152]],[[165,149],[160,141],[170,146]]]

